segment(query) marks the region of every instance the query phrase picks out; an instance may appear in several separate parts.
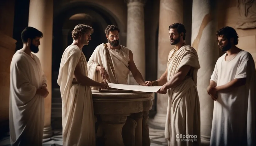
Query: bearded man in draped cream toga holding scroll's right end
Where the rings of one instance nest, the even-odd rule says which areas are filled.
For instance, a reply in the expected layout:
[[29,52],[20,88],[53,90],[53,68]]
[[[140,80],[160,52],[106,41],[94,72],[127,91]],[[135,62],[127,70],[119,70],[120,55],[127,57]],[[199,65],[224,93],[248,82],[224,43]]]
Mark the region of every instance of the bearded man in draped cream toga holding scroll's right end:
[[197,70],[200,65],[196,50],[185,44],[185,36],[183,24],[169,26],[170,42],[175,48],[169,53],[167,69],[158,80],[145,82],[146,86],[163,86],[157,93],[168,92],[165,139],[169,146],[200,145],[200,104],[197,92]]

